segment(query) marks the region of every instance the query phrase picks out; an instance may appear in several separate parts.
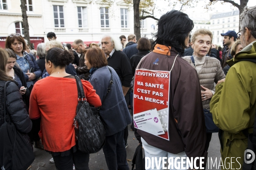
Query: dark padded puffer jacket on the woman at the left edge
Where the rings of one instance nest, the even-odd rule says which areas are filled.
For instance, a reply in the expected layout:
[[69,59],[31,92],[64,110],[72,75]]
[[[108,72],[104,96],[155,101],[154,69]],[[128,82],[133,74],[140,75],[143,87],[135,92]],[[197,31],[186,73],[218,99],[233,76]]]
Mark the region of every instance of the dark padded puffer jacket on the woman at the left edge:
[[[3,104],[3,88],[6,81],[0,80],[0,126],[4,123],[4,104]],[[20,95],[16,82],[10,82],[6,87],[6,113],[9,114],[11,121],[15,124],[17,130],[21,133],[28,133],[32,129],[32,122],[26,111],[25,104]],[[6,115],[6,121],[9,117]]]

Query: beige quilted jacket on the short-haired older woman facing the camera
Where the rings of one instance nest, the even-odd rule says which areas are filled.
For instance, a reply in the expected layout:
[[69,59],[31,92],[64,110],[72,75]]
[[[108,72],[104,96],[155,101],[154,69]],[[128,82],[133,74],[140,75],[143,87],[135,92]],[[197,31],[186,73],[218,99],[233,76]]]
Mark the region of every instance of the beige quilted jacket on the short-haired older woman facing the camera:
[[[189,62],[190,65],[192,65],[195,68],[190,57],[191,56],[185,56],[182,58],[185,59],[187,62]],[[214,94],[215,93],[214,83],[217,84],[219,80],[224,79],[226,76],[222,71],[221,62],[214,57],[206,56],[206,60],[204,62],[203,68],[198,73],[198,77],[200,80],[200,85],[204,86],[205,88],[208,88]],[[208,109],[208,110],[210,109],[210,105],[209,105],[210,101],[211,99],[203,101],[204,109]]]

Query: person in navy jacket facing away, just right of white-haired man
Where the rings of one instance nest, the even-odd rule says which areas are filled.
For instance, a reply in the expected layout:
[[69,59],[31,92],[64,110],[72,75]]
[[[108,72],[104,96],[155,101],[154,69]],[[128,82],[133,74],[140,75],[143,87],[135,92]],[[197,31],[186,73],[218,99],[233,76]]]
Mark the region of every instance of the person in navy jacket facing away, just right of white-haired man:
[[139,52],[137,46],[138,44],[136,44],[136,35],[128,35],[128,43],[126,44],[123,52],[127,55],[129,59],[131,58],[131,56]]

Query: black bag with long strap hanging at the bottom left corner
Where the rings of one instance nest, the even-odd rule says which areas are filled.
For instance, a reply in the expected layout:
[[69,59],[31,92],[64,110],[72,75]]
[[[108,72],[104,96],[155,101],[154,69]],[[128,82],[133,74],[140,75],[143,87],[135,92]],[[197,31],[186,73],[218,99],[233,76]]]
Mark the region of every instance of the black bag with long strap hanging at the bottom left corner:
[[4,85],[2,106],[4,107],[4,123],[0,127],[0,168],[2,170],[26,170],[34,161],[35,156],[24,136],[16,129],[9,114],[6,122],[6,86]]

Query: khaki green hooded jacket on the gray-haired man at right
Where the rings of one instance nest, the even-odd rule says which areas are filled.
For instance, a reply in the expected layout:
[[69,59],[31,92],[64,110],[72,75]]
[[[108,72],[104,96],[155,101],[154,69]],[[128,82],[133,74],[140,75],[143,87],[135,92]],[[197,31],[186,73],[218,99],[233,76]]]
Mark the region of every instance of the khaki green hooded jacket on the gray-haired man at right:
[[[253,132],[256,113],[256,64],[241,61],[243,58],[256,58],[256,41],[247,45],[234,59],[228,61],[231,65],[225,82],[216,86],[216,91],[210,102],[210,112],[214,123],[224,132],[221,136],[221,158],[227,169],[241,169],[244,160],[244,150],[247,148],[247,137],[241,130]],[[240,157],[240,158],[238,158]],[[226,159],[227,158],[227,159]],[[226,161],[224,161],[226,159]]]

